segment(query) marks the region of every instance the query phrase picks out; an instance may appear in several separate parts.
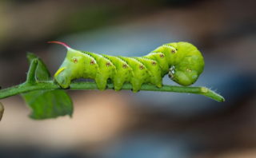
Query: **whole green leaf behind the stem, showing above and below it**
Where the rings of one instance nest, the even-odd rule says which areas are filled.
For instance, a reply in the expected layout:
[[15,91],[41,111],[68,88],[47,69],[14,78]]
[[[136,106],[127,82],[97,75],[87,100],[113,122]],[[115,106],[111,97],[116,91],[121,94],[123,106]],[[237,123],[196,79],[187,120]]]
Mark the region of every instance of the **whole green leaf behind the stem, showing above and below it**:
[[[28,61],[38,59],[36,77],[38,81],[49,81],[50,72],[43,61],[34,53],[27,53]],[[26,104],[32,109],[30,117],[35,120],[56,118],[69,115],[72,117],[73,103],[70,96],[64,90],[33,91],[22,94]]]

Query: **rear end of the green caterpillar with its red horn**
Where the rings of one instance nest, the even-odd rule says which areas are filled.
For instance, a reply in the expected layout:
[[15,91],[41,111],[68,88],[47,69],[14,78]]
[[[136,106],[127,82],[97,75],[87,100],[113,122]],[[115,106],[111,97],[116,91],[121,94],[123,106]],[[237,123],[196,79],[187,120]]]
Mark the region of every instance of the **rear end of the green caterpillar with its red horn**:
[[84,69],[84,58],[78,50],[71,49],[60,41],[49,41],[48,43],[58,43],[66,47],[67,55],[58,71],[54,74],[54,81],[58,82],[63,89],[70,85],[70,81],[82,77]]

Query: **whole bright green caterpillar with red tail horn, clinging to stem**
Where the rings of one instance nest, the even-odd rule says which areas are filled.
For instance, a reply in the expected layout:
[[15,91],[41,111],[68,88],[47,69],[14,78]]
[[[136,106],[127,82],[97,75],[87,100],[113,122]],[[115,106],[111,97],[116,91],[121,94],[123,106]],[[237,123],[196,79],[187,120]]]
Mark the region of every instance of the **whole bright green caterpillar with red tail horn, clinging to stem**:
[[187,42],[165,44],[144,57],[114,57],[110,55],[71,49],[60,41],[49,41],[66,46],[67,55],[54,75],[63,89],[70,81],[78,78],[92,78],[98,89],[105,90],[107,80],[119,91],[125,82],[130,82],[134,93],[143,83],[162,87],[162,77],[167,73],[179,85],[192,85],[204,69],[204,60],[199,50]]

